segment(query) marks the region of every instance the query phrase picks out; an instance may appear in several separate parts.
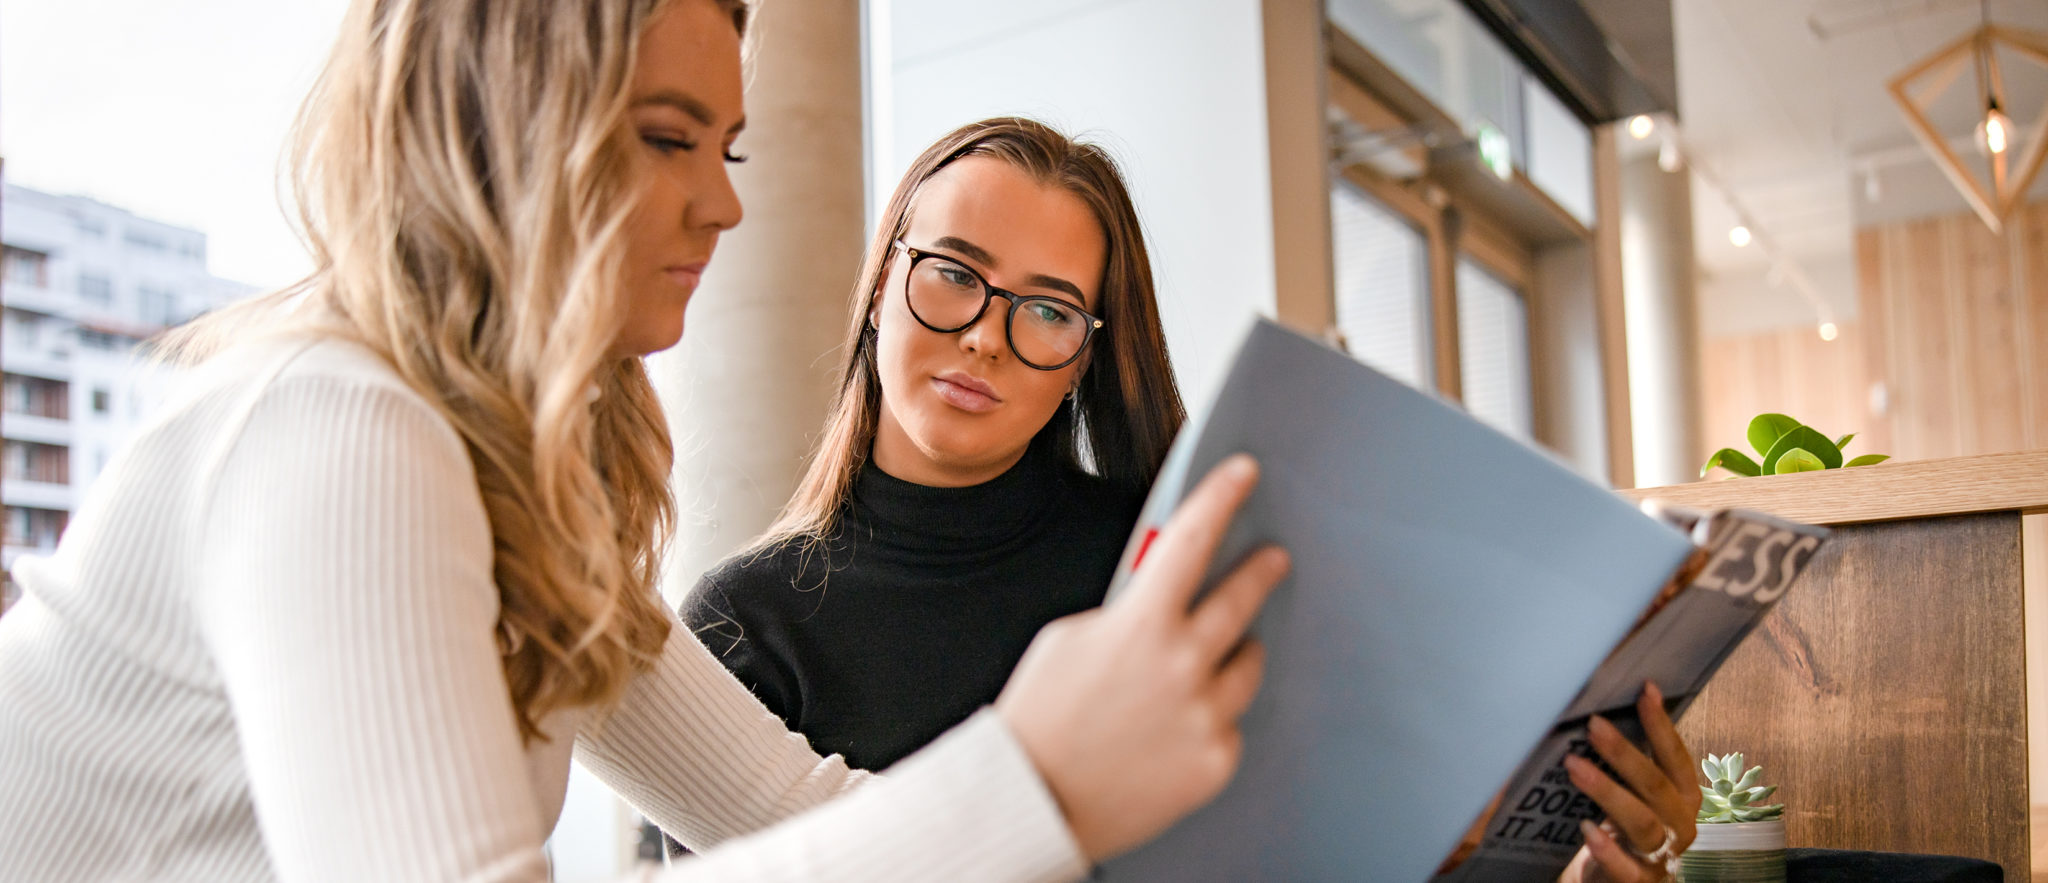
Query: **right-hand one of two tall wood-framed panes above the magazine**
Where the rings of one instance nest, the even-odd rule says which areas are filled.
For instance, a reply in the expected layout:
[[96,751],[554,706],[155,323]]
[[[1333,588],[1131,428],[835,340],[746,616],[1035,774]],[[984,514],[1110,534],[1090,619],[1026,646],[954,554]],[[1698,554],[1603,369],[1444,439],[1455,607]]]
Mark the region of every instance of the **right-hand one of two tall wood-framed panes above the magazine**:
[[1528,303],[1470,260],[1458,260],[1458,367],[1473,416],[1534,440]]

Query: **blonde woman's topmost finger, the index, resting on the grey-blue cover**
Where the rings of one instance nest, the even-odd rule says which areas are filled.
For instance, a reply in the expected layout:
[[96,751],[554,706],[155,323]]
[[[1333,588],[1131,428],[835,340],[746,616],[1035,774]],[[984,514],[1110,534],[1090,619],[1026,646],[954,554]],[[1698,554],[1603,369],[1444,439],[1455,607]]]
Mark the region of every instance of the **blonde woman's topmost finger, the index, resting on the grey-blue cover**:
[[1139,578],[1112,608],[1128,604],[1141,613],[1165,613],[1171,621],[1186,617],[1223,531],[1257,483],[1260,465],[1251,457],[1231,455],[1217,463],[1167,518],[1145,553]]

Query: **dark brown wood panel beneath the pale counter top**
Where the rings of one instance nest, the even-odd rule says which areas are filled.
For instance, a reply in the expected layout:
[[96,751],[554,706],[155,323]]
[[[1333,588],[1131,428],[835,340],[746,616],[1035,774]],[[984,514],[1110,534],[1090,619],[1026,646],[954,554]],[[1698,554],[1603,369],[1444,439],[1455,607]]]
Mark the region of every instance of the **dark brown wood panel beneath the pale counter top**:
[[2025,881],[2019,567],[2013,512],[1839,527],[1679,731],[1763,764],[1794,846],[1976,856]]

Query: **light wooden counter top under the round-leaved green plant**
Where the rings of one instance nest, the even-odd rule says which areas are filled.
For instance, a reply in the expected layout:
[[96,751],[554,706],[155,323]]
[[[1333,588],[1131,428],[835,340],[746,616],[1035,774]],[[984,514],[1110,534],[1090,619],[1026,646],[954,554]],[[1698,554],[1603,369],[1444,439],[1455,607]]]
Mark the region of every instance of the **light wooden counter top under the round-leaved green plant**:
[[1812,524],[1968,512],[2048,512],[2048,451],[1878,463],[1618,492],[1694,508],[1753,508]]

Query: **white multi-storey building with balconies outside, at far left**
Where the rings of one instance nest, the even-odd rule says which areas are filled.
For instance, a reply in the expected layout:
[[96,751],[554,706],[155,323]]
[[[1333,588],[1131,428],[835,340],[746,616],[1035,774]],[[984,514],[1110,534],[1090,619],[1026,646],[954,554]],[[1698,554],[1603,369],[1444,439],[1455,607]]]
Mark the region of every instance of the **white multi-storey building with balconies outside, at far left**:
[[[207,234],[113,205],[0,191],[4,565],[51,549],[86,486],[160,402],[137,344],[248,295],[207,272]],[[12,582],[8,584],[12,600]]]

